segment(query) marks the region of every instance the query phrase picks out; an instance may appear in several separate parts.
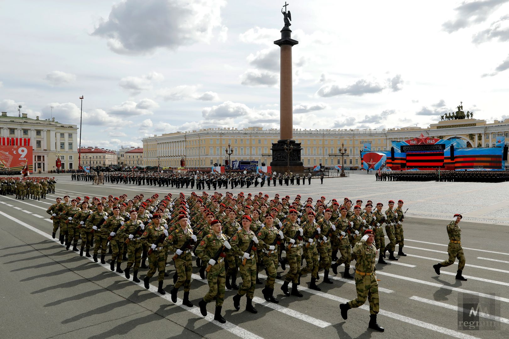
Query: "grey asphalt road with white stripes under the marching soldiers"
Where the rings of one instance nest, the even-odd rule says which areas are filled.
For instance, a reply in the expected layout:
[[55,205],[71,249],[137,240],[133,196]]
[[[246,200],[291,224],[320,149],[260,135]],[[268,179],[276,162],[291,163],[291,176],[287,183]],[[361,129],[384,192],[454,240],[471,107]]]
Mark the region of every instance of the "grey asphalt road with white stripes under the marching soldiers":
[[[466,257],[463,275],[467,282],[455,280],[457,262],[442,268],[437,276],[432,265],[447,258],[447,220],[407,218],[405,220],[405,253],[398,262],[377,264],[380,313],[378,323],[385,332],[367,329],[369,304],[340,316],[339,304],[355,298],[353,280],[334,276],[334,284],[323,284],[321,292],[309,290],[309,274],[302,279],[299,290],[304,297],[284,296],[276,281],[275,296],[279,304],[267,303],[257,285],[254,305],[258,314],[233,307],[236,291],[227,290],[223,304],[226,324],[213,321],[214,303],[208,304],[209,315],[200,314],[198,301],[207,293],[205,281],[193,267],[190,299],[194,307],[183,306],[183,291],[174,304],[167,293],[156,293],[157,279],[147,291],[142,283],[125,279],[123,274],[109,270],[106,264],[94,263],[51,238],[52,223],[46,209],[56,196],[107,196],[134,193],[150,196],[155,192],[172,194],[180,190],[158,187],[135,187],[105,184],[91,186],[87,182],[70,181],[59,176],[55,194],[41,201],[15,200],[0,196],[0,294],[2,297],[2,336],[5,338],[505,338],[509,330],[509,252],[507,226],[489,223],[462,222],[462,245]],[[341,181],[343,180],[343,181]],[[348,179],[326,179],[327,190],[343,185]],[[316,199],[323,186],[318,180],[301,187],[276,187],[261,190],[251,187],[243,191],[269,194],[304,193]],[[376,191],[373,182],[372,190]],[[411,187],[412,183],[407,183]],[[453,183],[458,191],[464,183]],[[493,189],[496,188],[493,184]],[[300,192],[297,192],[296,189]],[[288,191],[285,191],[288,190]],[[291,190],[291,193],[290,191]],[[339,191],[339,190],[338,190]],[[190,193],[190,190],[184,190]],[[325,194],[327,201],[342,198],[345,193]],[[187,196],[187,194],[186,194]],[[353,200],[355,196],[350,196]],[[393,199],[399,199],[397,195]],[[367,200],[367,199],[363,199]],[[450,220],[450,219],[449,219]],[[386,239],[387,242],[387,239]],[[79,246],[79,243],[78,243]],[[122,268],[125,267],[123,263]],[[173,286],[173,265],[167,266],[170,279],[164,288]],[[288,269],[288,268],[287,268]],[[279,271],[281,268],[279,267]],[[338,273],[343,267],[338,268]],[[140,269],[140,278],[146,269]],[[264,280],[262,278],[262,280]],[[240,277],[237,283],[240,282]],[[493,329],[460,329],[458,306],[463,298],[478,298],[479,321]],[[466,299],[465,299],[466,300]],[[460,301],[460,303],[458,303]],[[465,305],[468,306],[468,305]],[[504,334],[505,333],[505,334]]]

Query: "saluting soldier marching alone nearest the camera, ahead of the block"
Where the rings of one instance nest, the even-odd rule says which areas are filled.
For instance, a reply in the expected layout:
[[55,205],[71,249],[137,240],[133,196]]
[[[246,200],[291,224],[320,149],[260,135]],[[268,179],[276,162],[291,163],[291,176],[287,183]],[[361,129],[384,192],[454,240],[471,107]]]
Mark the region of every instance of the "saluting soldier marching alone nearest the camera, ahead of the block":
[[364,236],[357,242],[353,248],[353,253],[357,255],[357,264],[355,265],[355,287],[357,289],[357,298],[346,304],[340,304],[341,316],[347,319],[347,312],[352,307],[359,307],[366,302],[370,302],[370,323],[369,328],[377,331],[384,331],[383,327],[377,324],[377,314],[380,310],[378,298],[378,282],[375,274],[375,260],[377,249],[373,244],[375,232],[366,230]]

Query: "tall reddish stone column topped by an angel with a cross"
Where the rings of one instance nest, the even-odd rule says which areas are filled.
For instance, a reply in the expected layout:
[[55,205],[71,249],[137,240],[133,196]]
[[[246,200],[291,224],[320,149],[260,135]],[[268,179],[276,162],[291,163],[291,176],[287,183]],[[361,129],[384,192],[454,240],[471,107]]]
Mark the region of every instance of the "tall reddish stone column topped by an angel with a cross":
[[281,39],[274,44],[281,48],[280,94],[279,94],[279,140],[272,144],[272,172],[303,172],[304,166],[300,160],[300,143],[293,139],[293,94],[292,94],[292,46],[299,42],[291,38],[290,20],[292,16],[287,11],[285,2],[285,26],[281,29]]

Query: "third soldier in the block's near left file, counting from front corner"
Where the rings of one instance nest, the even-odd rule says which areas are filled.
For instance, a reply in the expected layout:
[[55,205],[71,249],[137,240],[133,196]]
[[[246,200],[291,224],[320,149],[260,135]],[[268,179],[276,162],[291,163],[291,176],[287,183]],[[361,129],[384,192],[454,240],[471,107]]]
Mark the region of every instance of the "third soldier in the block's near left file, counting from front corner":
[[[166,245],[163,244],[164,239],[168,237],[168,231],[161,225],[161,214],[152,215],[152,221],[145,232],[142,235],[142,241],[146,241],[149,243],[150,254],[149,257],[149,271],[147,272],[147,276],[143,279],[145,284],[145,288],[150,288],[150,278],[154,275],[156,271],[159,271],[159,275],[157,277],[158,288],[157,292],[159,294],[166,294],[164,289],[162,288],[162,284],[164,282],[164,271],[166,269]],[[177,296],[175,296],[175,301]],[[173,301],[173,294],[172,294]]]

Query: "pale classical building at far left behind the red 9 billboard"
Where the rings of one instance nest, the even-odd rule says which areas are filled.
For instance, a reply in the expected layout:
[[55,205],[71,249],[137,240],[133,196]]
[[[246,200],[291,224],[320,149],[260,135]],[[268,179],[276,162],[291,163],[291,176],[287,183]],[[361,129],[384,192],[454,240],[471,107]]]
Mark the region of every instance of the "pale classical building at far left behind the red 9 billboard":
[[78,168],[78,128],[76,125],[61,124],[52,119],[35,119],[0,115],[0,137],[30,138],[33,147],[33,172],[47,173],[56,170],[56,159],[61,160],[61,169]]

